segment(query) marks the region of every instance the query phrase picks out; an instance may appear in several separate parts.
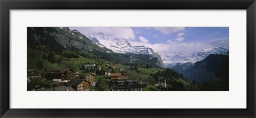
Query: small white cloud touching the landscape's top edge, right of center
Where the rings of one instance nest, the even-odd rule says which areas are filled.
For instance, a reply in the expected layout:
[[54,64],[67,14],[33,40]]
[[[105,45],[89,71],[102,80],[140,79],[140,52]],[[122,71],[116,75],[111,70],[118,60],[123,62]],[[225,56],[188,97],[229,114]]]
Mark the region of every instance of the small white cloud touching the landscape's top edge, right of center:
[[164,35],[169,35],[173,32],[185,31],[185,27],[154,27],[154,29],[160,31]]

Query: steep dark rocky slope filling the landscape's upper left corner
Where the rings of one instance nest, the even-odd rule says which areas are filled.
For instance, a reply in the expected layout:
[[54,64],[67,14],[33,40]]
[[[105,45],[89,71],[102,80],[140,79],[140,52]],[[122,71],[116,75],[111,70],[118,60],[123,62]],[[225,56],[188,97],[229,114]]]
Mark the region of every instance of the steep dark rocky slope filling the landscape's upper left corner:
[[[31,41],[31,42],[29,42]],[[102,48],[93,43],[77,30],[61,27],[28,27],[28,44],[39,41],[41,44],[49,45],[54,52],[59,50],[99,50],[102,52],[113,52],[108,48]],[[59,48],[59,50],[58,50]]]

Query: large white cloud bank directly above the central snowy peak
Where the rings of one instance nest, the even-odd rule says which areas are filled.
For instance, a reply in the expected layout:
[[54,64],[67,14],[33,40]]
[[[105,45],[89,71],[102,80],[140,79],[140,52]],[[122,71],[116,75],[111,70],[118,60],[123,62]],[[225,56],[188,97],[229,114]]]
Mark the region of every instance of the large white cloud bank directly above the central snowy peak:
[[85,36],[94,32],[104,32],[109,36],[121,37],[126,39],[135,39],[134,31],[130,27],[70,27],[70,29],[78,30]]

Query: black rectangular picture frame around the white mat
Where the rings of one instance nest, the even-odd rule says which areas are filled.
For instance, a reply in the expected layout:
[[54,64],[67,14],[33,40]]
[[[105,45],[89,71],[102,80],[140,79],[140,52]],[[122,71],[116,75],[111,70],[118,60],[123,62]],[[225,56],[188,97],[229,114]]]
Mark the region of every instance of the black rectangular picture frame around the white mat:
[[[255,0],[0,0],[1,117],[255,117]],[[246,10],[246,109],[12,109],[10,108],[10,10],[197,9]],[[235,104],[235,103],[234,103]]]

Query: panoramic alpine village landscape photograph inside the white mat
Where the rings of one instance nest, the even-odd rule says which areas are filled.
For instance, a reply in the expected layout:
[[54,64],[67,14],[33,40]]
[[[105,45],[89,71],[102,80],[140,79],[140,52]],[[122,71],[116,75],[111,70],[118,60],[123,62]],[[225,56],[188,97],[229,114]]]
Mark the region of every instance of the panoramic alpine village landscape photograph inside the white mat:
[[229,27],[27,27],[27,91],[229,91]]

